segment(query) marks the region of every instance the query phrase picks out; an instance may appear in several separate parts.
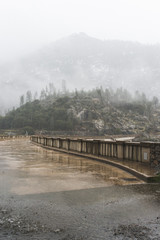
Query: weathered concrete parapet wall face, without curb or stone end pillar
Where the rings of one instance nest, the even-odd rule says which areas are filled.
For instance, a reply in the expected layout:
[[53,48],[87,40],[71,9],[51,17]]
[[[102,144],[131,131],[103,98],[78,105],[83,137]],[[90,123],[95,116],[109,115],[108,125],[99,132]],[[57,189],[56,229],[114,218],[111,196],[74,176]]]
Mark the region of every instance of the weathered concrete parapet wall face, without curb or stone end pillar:
[[46,136],[31,136],[31,140],[43,146],[64,149],[79,153],[91,154],[116,159],[128,159],[151,163],[150,142],[124,142],[92,139],[52,138]]

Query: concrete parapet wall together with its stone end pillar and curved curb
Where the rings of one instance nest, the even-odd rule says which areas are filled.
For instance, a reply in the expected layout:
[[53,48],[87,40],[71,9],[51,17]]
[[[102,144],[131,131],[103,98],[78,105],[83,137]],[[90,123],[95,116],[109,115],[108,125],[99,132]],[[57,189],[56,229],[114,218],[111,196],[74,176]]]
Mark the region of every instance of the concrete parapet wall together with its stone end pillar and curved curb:
[[31,136],[31,141],[43,147],[96,159],[100,162],[119,167],[136,177],[148,181],[149,176],[137,172],[123,164],[117,163],[116,159],[144,162],[148,165],[159,164],[160,143],[153,142],[124,142],[93,139],[53,138],[46,136]]

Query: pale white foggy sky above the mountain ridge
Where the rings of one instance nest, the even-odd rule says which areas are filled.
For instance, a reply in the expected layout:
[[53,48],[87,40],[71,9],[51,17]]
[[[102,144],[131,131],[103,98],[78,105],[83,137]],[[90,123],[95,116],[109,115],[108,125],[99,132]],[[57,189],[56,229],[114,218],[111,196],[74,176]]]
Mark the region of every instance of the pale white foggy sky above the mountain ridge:
[[0,0],[0,63],[72,33],[160,43],[159,0]]

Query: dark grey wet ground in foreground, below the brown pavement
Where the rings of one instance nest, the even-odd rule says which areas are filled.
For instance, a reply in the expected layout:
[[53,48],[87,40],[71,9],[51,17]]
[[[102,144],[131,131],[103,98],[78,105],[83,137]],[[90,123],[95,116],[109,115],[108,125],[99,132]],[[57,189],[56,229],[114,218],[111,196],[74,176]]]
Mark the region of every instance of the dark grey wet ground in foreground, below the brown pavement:
[[0,239],[160,239],[160,185],[0,197]]

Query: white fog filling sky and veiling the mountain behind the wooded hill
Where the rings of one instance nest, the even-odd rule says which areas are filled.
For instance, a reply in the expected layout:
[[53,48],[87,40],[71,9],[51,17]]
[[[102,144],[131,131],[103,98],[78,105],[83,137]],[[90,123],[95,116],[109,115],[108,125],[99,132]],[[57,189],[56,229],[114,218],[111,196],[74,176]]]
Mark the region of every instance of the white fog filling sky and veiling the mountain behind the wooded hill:
[[0,2],[0,113],[49,83],[160,97],[158,0]]

